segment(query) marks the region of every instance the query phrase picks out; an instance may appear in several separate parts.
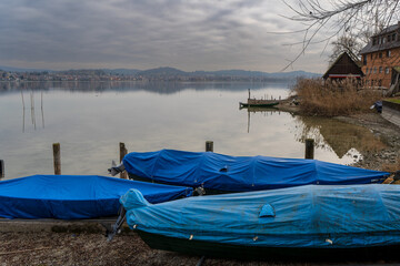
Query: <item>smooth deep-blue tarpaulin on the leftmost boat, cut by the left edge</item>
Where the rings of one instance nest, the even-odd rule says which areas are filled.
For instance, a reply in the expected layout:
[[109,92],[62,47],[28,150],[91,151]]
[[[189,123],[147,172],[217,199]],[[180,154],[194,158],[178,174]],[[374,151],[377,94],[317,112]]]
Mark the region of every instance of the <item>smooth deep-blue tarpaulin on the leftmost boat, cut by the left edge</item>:
[[151,203],[189,196],[192,188],[97,175],[33,175],[0,181],[0,217],[93,218],[116,216],[119,198],[139,190]]

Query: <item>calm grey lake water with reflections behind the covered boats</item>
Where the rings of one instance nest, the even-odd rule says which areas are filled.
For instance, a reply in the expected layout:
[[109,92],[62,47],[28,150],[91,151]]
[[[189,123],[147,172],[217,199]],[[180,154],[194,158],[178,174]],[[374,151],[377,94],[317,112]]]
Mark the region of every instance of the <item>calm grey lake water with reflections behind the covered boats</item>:
[[286,98],[288,83],[32,82],[0,83],[0,160],[6,180],[53,174],[52,143],[61,144],[62,174],[107,175],[129,152],[201,152],[206,141],[229,155],[304,156],[350,164],[382,144],[368,130],[330,119],[279,111],[248,112],[252,96]]

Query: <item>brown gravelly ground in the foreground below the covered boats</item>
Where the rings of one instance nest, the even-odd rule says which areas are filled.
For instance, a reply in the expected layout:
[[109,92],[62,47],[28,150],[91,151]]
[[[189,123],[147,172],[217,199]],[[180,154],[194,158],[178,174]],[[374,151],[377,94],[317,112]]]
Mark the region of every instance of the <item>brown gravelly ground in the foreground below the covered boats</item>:
[[[200,265],[200,256],[150,249],[133,232],[107,242],[101,233],[1,233],[0,265]],[[361,262],[360,262],[361,260]],[[201,265],[399,265],[396,262],[249,262],[204,258]]]

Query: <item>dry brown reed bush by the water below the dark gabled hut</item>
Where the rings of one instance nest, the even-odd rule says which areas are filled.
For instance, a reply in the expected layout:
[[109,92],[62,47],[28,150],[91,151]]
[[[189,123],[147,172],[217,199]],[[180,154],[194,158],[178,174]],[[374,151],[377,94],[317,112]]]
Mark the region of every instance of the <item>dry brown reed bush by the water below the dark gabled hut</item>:
[[300,110],[309,115],[349,115],[370,112],[370,106],[381,100],[381,94],[360,90],[351,80],[340,83],[322,79],[299,79],[293,92],[300,100]]

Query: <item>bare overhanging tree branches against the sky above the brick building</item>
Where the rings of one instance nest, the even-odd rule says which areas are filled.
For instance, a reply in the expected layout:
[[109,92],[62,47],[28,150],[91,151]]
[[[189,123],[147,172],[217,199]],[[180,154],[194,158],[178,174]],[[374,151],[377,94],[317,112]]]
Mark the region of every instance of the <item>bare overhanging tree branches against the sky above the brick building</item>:
[[[377,33],[400,20],[400,0],[282,0],[294,12],[290,20],[304,25],[302,48],[284,68],[291,66],[310,44],[326,42],[334,37],[362,37],[366,32]],[[317,39],[321,32],[330,32]]]

